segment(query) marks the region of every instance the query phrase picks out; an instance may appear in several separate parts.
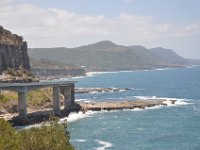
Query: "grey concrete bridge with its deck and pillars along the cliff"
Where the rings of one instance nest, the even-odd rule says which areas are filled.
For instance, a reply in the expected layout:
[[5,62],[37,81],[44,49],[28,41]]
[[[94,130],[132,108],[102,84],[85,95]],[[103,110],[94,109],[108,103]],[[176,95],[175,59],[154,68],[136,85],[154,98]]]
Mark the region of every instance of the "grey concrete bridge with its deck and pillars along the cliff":
[[19,116],[27,118],[27,93],[31,90],[53,87],[53,111],[55,115],[61,113],[60,93],[64,95],[64,109],[69,110],[75,99],[75,81],[47,81],[33,83],[0,83],[0,90],[18,93]]

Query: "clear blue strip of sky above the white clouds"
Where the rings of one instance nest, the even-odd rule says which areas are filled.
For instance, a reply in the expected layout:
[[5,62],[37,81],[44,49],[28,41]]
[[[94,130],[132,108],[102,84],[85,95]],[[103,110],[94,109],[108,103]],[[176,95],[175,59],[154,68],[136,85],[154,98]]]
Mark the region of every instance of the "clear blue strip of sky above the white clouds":
[[199,0],[26,0],[43,8],[56,7],[88,15],[116,16],[120,13],[154,16],[165,22],[200,20]]

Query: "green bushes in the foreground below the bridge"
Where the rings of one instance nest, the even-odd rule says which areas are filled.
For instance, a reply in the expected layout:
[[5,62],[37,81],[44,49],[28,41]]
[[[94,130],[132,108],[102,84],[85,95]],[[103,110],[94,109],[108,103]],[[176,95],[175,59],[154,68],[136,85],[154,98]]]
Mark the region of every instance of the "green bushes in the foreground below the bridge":
[[1,150],[74,150],[65,125],[51,122],[50,126],[16,131],[0,119]]

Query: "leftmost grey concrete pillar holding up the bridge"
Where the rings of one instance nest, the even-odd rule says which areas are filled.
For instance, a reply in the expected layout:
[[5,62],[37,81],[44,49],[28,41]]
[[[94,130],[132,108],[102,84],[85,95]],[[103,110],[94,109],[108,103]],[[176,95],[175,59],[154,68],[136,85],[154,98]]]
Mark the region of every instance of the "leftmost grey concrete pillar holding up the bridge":
[[27,118],[27,105],[26,105],[27,90],[18,92],[18,111],[19,116]]

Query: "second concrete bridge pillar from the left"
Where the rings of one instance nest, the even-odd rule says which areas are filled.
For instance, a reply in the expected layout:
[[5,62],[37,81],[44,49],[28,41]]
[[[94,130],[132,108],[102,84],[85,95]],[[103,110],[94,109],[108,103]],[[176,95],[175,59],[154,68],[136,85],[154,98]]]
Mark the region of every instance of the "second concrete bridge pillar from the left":
[[53,86],[53,111],[55,115],[60,114],[60,87]]

